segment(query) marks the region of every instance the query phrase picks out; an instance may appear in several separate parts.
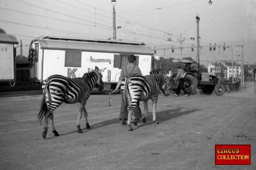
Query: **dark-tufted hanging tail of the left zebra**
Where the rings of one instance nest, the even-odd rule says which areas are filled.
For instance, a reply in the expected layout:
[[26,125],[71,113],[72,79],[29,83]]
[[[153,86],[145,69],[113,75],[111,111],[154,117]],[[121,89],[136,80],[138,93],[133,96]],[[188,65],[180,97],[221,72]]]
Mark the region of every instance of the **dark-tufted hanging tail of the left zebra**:
[[[37,115],[37,118],[40,121],[40,125],[42,123],[42,119],[43,119],[43,117],[45,115],[45,112],[48,109],[48,106],[47,106],[47,103],[46,103],[46,94],[47,94],[48,98],[51,99],[50,92],[49,92],[49,83],[50,83],[50,81],[47,78],[46,85],[44,87],[44,92],[43,92],[43,98],[42,98],[42,102],[41,102],[40,111],[39,111],[39,113]],[[49,101],[49,102],[51,103],[51,101]]]

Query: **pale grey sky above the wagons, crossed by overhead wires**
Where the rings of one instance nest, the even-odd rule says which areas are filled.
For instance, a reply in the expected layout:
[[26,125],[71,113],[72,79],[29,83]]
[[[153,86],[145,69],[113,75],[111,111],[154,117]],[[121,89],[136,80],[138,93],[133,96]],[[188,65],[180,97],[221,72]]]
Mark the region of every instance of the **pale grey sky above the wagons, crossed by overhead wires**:
[[42,35],[113,39],[114,6],[117,40],[143,42],[167,59],[196,60],[199,16],[200,64],[241,63],[242,51],[245,64],[256,64],[256,1],[211,1],[1,0],[0,28],[22,40],[28,56],[30,42]]

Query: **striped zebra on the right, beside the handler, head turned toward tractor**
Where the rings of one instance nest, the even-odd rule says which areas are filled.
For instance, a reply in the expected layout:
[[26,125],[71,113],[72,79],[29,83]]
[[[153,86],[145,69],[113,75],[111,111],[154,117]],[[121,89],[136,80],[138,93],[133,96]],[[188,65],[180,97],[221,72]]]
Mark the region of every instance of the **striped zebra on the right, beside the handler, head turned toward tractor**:
[[[131,119],[135,119],[133,113],[134,108],[137,106],[138,101],[144,103],[144,117],[143,123],[146,123],[146,117],[148,114],[148,100],[152,100],[153,105],[153,122],[158,124],[156,120],[156,104],[158,101],[159,88],[165,96],[169,96],[168,86],[169,78],[165,74],[162,74],[160,70],[150,72],[150,75],[142,76],[141,74],[132,74],[125,79],[121,89],[124,91],[124,96],[127,101],[128,108],[128,122],[129,131],[132,131]],[[134,125],[137,122],[134,121]]]

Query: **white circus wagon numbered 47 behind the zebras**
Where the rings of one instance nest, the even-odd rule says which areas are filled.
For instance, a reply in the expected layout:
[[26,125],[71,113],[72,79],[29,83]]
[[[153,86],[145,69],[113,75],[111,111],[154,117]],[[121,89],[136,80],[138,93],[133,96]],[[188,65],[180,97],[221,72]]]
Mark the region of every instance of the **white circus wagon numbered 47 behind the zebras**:
[[144,43],[107,39],[42,36],[30,44],[30,79],[42,82],[53,74],[82,77],[88,68],[106,68],[102,73],[104,90],[115,88],[128,55],[137,57],[143,75],[149,75],[154,51]]

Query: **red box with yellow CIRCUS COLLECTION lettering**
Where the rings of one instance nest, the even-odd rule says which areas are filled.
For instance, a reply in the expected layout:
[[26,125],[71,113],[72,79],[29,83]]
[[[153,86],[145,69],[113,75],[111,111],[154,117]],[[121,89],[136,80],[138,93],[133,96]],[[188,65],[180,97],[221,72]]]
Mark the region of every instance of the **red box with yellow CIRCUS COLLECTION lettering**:
[[251,145],[215,145],[215,165],[250,165]]

